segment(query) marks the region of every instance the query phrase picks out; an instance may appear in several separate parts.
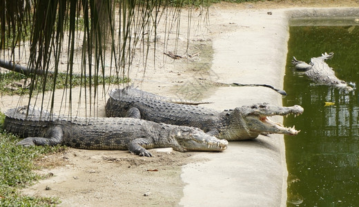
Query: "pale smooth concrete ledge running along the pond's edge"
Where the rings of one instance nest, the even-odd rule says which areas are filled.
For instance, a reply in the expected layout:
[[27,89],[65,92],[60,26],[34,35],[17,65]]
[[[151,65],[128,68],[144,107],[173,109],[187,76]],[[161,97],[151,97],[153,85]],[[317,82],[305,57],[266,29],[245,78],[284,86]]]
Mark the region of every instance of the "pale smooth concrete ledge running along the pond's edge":
[[[289,19],[339,17],[358,14],[359,8],[302,8],[228,10],[211,8],[211,18],[233,27],[213,35],[212,72],[224,83],[266,83],[283,87],[289,39]],[[257,102],[282,106],[282,97],[260,87],[220,88],[211,98],[217,110]],[[275,121],[282,121],[278,117]],[[183,206],[287,206],[287,164],[282,135],[231,142],[222,153],[199,153],[209,161],[184,166]]]

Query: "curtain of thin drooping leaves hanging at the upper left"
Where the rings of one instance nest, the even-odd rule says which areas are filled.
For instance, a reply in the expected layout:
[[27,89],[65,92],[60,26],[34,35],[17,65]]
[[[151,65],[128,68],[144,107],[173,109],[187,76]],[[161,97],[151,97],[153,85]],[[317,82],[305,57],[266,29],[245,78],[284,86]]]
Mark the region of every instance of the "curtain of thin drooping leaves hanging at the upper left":
[[[165,41],[173,31],[178,37],[182,8],[195,4],[208,6],[208,1],[0,0],[0,7],[5,8],[0,10],[0,59],[14,66],[19,57],[26,57],[27,67],[34,70],[28,75],[28,104],[51,112],[60,101],[61,108],[67,108],[64,112],[72,115],[72,77],[80,75],[84,90],[79,96],[90,103],[81,104],[86,104],[86,116],[91,117],[96,114],[99,96],[106,93],[105,77],[115,75],[118,85],[129,77],[138,48],[143,52],[146,71],[149,48],[156,50],[159,21],[166,24]],[[188,28],[189,24],[191,21]],[[189,29],[186,32],[189,34]],[[166,49],[166,42],[164,45]],[[78,59],[79,66],[75,65]],[[61,67],[64,61],[66,67]],[[67,74],[66,87],[62,99],[56,100],[59,72]],[[48,79],[49,75],[53,77]],[[46,99],[48,81],[52,81],[52,91]]]

